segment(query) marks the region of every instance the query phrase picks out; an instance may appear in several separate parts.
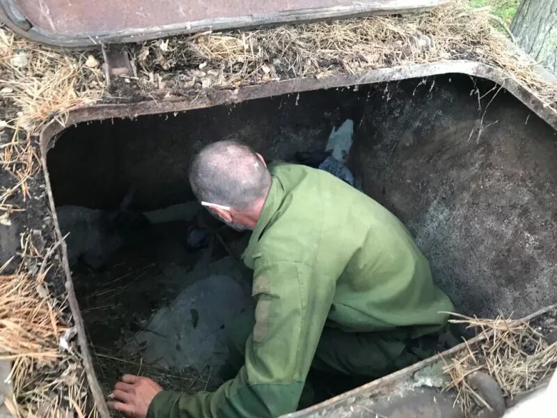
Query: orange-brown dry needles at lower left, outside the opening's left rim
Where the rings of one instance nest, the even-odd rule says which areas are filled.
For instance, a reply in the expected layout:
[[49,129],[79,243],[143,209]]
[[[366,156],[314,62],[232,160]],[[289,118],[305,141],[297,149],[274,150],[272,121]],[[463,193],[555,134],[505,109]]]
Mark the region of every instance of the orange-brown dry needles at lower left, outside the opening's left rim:
[[63,304],[45,283],[54,248],[40,251],[24,234],[22,250],[24,259],[40,261],[35,274],[24,265],[13,274],[0,269],[0,360],[13,364],[13,398],[6,405],[17,417],[95,417],[75,342],[70,341],[72,353],[59,346],[69,325]]

